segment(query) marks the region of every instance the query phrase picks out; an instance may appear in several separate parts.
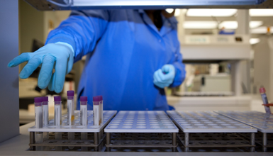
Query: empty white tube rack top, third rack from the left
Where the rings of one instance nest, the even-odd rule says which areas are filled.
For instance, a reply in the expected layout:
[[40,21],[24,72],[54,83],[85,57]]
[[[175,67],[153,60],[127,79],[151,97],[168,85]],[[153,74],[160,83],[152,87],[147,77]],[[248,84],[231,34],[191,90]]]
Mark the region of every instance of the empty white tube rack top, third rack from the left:
[[256,133],[257,129],[213,111],[167,111],[184,133]]

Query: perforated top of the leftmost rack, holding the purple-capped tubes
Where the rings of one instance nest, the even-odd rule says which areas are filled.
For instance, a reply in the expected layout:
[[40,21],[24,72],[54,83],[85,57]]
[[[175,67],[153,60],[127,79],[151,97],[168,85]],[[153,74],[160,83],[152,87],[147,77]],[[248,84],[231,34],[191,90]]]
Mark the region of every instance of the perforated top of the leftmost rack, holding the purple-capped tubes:
[[111,118],[116,115],[117,111],[104,111],[104,121],[101,126],[94,126],[93,111],[87,111],[87,126],[80,125],[80,111],[74,113],[74,125],[67,125],[67,114],[62,115],[62,125],[55,126],[54,119],[49,121],[48,126],[43,128],[35,128],[35,126],[28,128],[29,132],[100,132],[104,128]]

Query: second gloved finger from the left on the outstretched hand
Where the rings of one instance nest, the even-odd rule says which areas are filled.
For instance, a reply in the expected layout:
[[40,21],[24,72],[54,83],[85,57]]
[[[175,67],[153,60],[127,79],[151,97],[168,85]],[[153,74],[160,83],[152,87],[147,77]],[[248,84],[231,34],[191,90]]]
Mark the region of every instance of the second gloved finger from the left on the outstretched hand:
[[33,71],[39,67],[39,65],[42,63],[42,60],[40,57],[33,57],[28,61],[28,64],[26,64],[25,67],[23,67],[22,71],[20,72],[19,76],[21,79],[26,79],[30,76],[30,74],[33,73]]

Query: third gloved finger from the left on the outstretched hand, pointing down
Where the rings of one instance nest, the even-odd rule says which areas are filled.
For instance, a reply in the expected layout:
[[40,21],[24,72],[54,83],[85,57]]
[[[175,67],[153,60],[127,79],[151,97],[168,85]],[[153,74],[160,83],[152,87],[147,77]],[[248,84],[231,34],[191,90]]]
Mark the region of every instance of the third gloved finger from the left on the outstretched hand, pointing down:
[[50,83],[54,63],[55,57],[52,55],[45,55],[43,58],[42,68],[40,69],[38,78],[38,87],[40,87],[40,89],[45,89]]

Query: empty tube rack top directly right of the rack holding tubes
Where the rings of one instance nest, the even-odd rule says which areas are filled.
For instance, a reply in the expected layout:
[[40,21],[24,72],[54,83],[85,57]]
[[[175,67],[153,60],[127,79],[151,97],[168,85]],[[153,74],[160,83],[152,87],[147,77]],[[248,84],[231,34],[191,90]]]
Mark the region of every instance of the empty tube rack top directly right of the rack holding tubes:
[[164,111],[119,111],[106,133],[178,133]]

